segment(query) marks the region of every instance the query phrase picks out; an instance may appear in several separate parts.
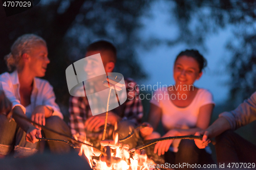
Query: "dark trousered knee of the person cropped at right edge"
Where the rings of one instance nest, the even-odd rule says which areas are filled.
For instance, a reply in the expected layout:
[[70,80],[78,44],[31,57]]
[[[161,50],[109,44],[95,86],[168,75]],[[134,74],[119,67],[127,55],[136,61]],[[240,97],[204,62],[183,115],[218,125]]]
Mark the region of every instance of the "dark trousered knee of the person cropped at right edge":
[[216,137],[215,149],[219,163],[256,163],[256,145],[231,130]]

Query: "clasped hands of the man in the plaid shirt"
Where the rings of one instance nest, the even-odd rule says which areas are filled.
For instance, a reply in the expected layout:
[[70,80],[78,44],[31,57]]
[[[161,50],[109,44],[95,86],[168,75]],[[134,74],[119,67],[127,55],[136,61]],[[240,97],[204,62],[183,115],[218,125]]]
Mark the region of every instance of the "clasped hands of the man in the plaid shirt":
[[[119,122],[120,117],[113,112],[109,112],[108,114],[108,124],[115,125]],[[101,126],[105,124],[105,114],[99,114],[96,116],[92,116],[86,120],[84,126],[89,131],[98,131]]]

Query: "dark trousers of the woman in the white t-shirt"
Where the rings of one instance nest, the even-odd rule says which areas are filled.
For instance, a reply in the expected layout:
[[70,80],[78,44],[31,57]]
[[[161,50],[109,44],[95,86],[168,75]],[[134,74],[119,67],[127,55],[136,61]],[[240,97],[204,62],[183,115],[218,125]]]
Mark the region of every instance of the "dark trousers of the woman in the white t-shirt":
[[[165,162],[170,164],[214,164],[211,155],[204,149],[199,149],[194,140],[182,139],[179,144],[179,151],[177,153],[167,151],[164,155]],[[178,169],[178,168],[176,168]],[[193,168],[182,168],[193,169]]]

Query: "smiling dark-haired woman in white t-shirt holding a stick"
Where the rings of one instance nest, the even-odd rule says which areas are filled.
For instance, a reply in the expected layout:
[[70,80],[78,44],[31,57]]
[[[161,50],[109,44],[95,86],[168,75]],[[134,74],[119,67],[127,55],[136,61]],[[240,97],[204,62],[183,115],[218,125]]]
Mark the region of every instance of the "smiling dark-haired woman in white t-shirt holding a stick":
[[[205,58],[197,50],[181,52],[174,63],[175,85],[162,86],[155,91],[148,122],[157,130],[161,120],[165,134],[162,137],[195,134],[206,129],[210,122],[214,101],[211,93],[194,86],[203,74],[206,66]],[[145,139],[160,138],[153,132]],[[166,153],[165,153],[166,152]],[[165,162],[172,164],[200,163],[199,160],[212,160],[205,150],[199,150],[193,140],[166,140],[156,143],[154,153],[165,154]]]

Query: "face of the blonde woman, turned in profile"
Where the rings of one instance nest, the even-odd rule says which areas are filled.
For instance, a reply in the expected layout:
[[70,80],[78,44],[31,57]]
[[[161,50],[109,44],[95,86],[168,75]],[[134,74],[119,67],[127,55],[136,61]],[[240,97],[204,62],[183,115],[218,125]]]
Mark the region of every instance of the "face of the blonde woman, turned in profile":
[[32,48],[28,55],[30,56],[28,66],[31,74],[35,77],[44,77],[47,65],[50,63],[47,47],[39,44]]

